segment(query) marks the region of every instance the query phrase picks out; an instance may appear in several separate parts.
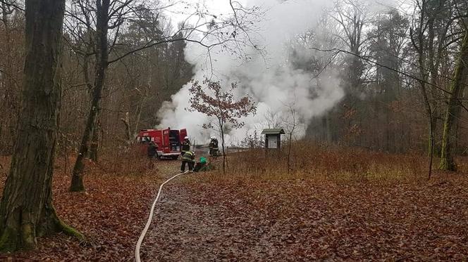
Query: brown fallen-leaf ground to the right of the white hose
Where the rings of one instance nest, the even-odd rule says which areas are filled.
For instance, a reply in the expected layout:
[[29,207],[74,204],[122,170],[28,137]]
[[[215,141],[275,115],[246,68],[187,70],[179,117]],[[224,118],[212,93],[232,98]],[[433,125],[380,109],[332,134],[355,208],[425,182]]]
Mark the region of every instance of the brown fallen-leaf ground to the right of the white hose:
[[149,261],[466,260],[468,179],[443,179],[186,179],[164,192],[142,252]]

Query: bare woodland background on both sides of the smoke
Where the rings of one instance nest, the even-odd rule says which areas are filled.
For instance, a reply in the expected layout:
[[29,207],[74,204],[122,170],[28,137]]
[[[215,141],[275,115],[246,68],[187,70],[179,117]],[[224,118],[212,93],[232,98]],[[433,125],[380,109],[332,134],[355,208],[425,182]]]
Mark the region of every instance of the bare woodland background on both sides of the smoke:
[[[103,154],[125,146],[139,129],[158,124],[161,103],[192,77],[184,57],[187,30],[177,30],[187,25],[171,23],[157,2],[122,3],[109,1],[109,61],[92,128],[91,144]],[[10,155],[16,140],[25,49],[22,6],[15,0],[0,6],[1,155]],[[289,59],[297,69],[318,75],[333,67],[345,90],[333,110],[307,126],[306,138],[386,152],[428,152],[432,126],[433,152],[440,155],[455,67],[458,60],[464,65],[467,10],[464,0],[408,0],[378,12],[364,1],[335,1],[318,27],[290,44]],[[67,4],[58,150],[78,150],[87,126],[100,66],[97,13],[92,1]],[[455,119],[450,136],[456,138],[455,152],[466,155],[467,76],[460,71],[461,90],[454,100],[460,112],[450,114]]]

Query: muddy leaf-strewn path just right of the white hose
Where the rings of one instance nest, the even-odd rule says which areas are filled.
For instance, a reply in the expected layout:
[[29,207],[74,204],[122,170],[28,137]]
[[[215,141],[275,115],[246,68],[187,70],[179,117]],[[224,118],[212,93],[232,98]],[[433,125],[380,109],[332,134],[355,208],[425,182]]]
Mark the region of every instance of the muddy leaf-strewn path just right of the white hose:
[[252,225],[259,214],[243,212],[240,200],[233,203],[239,209],[231,209],[223,202],[206,202],[197,193],[206,194],[183,184],[164,190],[142,246],[144,261],[229,261],[278,255],[264,240],[265,230],[273,230],[274,225]]

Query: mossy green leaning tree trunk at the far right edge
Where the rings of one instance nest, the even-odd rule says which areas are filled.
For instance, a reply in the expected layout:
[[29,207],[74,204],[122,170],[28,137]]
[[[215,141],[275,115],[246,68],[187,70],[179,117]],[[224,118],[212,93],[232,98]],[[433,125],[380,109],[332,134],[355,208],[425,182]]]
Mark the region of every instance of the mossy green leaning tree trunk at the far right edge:
[[463,96],[464,86],[468,80],[468,33],[465,34],[457,60],[455,75],[453,77],[450,95],[448,96],[448,107],[443,124],[443,138],[441,150],[441,164],[439,169],[455,171],[454,144],[457,140],[457,122],[460,119],[461,104],[460,98]]

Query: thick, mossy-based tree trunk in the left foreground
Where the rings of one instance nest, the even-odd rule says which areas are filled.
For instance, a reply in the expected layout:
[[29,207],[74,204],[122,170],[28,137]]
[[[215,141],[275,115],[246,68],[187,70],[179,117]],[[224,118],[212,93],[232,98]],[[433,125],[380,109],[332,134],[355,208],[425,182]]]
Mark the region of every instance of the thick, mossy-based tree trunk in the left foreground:
[[0,250],[36,247],[37,237],[64,225],[52,205],[52,175],[61,98],[65,0],[26,0],[23,96],[11,169],[0,203]]

